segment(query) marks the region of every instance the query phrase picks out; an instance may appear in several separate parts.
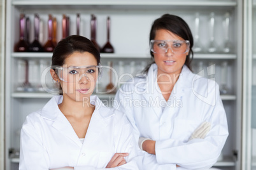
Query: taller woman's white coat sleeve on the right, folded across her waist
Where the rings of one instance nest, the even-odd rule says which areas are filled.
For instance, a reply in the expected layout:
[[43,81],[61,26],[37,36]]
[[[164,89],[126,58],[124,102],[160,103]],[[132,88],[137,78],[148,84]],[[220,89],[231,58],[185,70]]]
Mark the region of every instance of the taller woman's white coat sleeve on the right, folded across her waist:
[[[228,136],[227,117],[217,87],[215,106],[208,106],[208,117],[211,130],[204,139],[188,142],[168,139],[155,143],[155,153],[159,164],[175,163],[188,169],[201,169],[213,166]],[[197,107],[197,106],[196,106]]]

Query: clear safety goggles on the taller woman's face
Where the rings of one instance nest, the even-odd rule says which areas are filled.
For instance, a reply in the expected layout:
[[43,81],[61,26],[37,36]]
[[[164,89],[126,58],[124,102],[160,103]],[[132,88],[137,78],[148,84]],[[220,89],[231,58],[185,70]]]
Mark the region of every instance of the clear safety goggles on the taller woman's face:
[[189,50],[188,40],[151,40],[150,50],[156,54],[165,54],[171,49],[174,54],[184,54]]

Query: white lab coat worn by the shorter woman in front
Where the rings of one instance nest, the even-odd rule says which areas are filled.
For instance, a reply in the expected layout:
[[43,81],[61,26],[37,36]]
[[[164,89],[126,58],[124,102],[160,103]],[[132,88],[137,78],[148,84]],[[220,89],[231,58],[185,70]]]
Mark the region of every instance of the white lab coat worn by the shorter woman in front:
[[20,170],[104,169],[116,152],[128,152],[129,156],[125,157],[127,164],[113,169],[140,169],[143,155],[124,114],[91,96],[90,103],[96,108],[82,143],[59,110],[62,98],[53,96],[43,109],[27,116],[20,134]]

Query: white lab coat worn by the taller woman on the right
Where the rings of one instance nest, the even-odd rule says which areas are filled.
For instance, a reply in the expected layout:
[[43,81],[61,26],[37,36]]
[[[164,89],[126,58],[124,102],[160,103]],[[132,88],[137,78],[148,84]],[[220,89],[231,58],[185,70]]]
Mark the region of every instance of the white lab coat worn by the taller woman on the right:
[[[213,166],[229,134],[218,84],[184,65],[162,110],[159,103],[164,98],[156,80],[157,65],[152,64],[146,76],[136,77],[118,90],[114,107],[127,115],[137,140],[143,136],[156,141],[157,164],[178,164],[177,169]],[[188,141],[204,121],[211,122],[210,132],[204,139]],[[150,169],[146,164],[143,167]]]

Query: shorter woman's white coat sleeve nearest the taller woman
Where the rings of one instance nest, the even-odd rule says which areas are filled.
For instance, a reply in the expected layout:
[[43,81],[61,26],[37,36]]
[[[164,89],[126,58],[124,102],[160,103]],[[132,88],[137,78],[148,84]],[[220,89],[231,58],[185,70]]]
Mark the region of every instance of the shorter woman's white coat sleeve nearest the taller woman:
[[[132,127],[124,114],[117,112],[117,119],[115,119],[115,148],[117,153],[127,152],[129,155],[125,157],[126,164],[113,167],[110,169],[130,169],[136,170],[141,169],[143,154],[138,147],[138,143],[135,141],[134,136],[132,135]],[[98,169],[88,166],[75,167],[75,170],[87,170],[87,169]],[[103,168],[104,169],[104,168]]]

